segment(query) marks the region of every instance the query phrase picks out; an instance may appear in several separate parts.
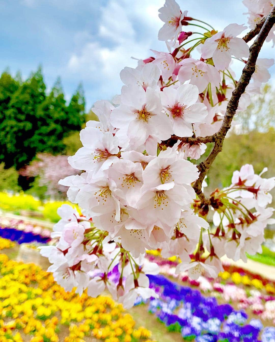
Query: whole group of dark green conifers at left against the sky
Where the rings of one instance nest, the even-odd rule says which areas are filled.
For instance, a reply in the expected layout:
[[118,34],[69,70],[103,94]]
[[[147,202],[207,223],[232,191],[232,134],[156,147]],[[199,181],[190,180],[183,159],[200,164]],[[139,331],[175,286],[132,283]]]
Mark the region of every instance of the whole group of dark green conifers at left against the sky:
[[[67,105],[60,78],[46,96],[41,67],[22,82],[17,73],[0,78],[0,162],[17,170],[39,152],[63,153],[63,139],[79,132],[85,121],[85,99],[81,85]],[[1,119],[1,117],[0,117]]]

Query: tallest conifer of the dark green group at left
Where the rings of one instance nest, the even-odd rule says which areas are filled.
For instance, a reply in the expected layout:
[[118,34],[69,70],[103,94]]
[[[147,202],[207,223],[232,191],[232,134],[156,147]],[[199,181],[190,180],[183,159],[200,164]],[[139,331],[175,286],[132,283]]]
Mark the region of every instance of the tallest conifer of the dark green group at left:
[[41,67],[11,96],[0,124],[0,144],[4,145],[0,161],[6,167],[20,169],[36,154],[32,138],[38,129],[37,107],[45,99],[45,83]]

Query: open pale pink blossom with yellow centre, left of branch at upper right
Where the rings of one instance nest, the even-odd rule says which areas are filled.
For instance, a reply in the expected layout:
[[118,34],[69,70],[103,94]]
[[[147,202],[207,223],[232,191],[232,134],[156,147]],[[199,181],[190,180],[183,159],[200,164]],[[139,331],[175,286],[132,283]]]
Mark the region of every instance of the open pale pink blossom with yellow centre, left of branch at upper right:
[[246,28],[246,26],[238,24],[226,26],[223,31],[205,40],[201,48],[201,57],[204,59],[212,57],[218,70],[229,67],[232,55],[236,58],[248,57],[249,47],[247,43],[236,37]]

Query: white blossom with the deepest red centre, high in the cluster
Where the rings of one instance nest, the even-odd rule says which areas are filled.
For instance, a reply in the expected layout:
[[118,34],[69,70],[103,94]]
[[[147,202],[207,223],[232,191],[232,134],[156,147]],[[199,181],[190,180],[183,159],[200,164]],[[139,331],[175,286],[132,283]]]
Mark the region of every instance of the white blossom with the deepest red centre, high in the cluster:
[[192,136],[192,123],[204,122],[207,108],[197,102],[198,96],[198,88],[192,84],[183,84],[177,89],[166,87],[161,92],[162,105],[172,120],[175,135]]

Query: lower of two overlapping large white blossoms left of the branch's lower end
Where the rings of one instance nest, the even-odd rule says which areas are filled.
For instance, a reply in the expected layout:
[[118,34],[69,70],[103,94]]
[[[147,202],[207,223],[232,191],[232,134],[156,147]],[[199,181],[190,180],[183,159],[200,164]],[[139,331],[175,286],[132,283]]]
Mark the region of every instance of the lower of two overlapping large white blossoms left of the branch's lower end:
[[170,182],[145,189],[137,202],[137,209],[140,219],[148,223],[154,223],[152,221],[157,218],[163,224],[173,226],[180,218],[182,206],[191,203],[195,198],[192,187]]

